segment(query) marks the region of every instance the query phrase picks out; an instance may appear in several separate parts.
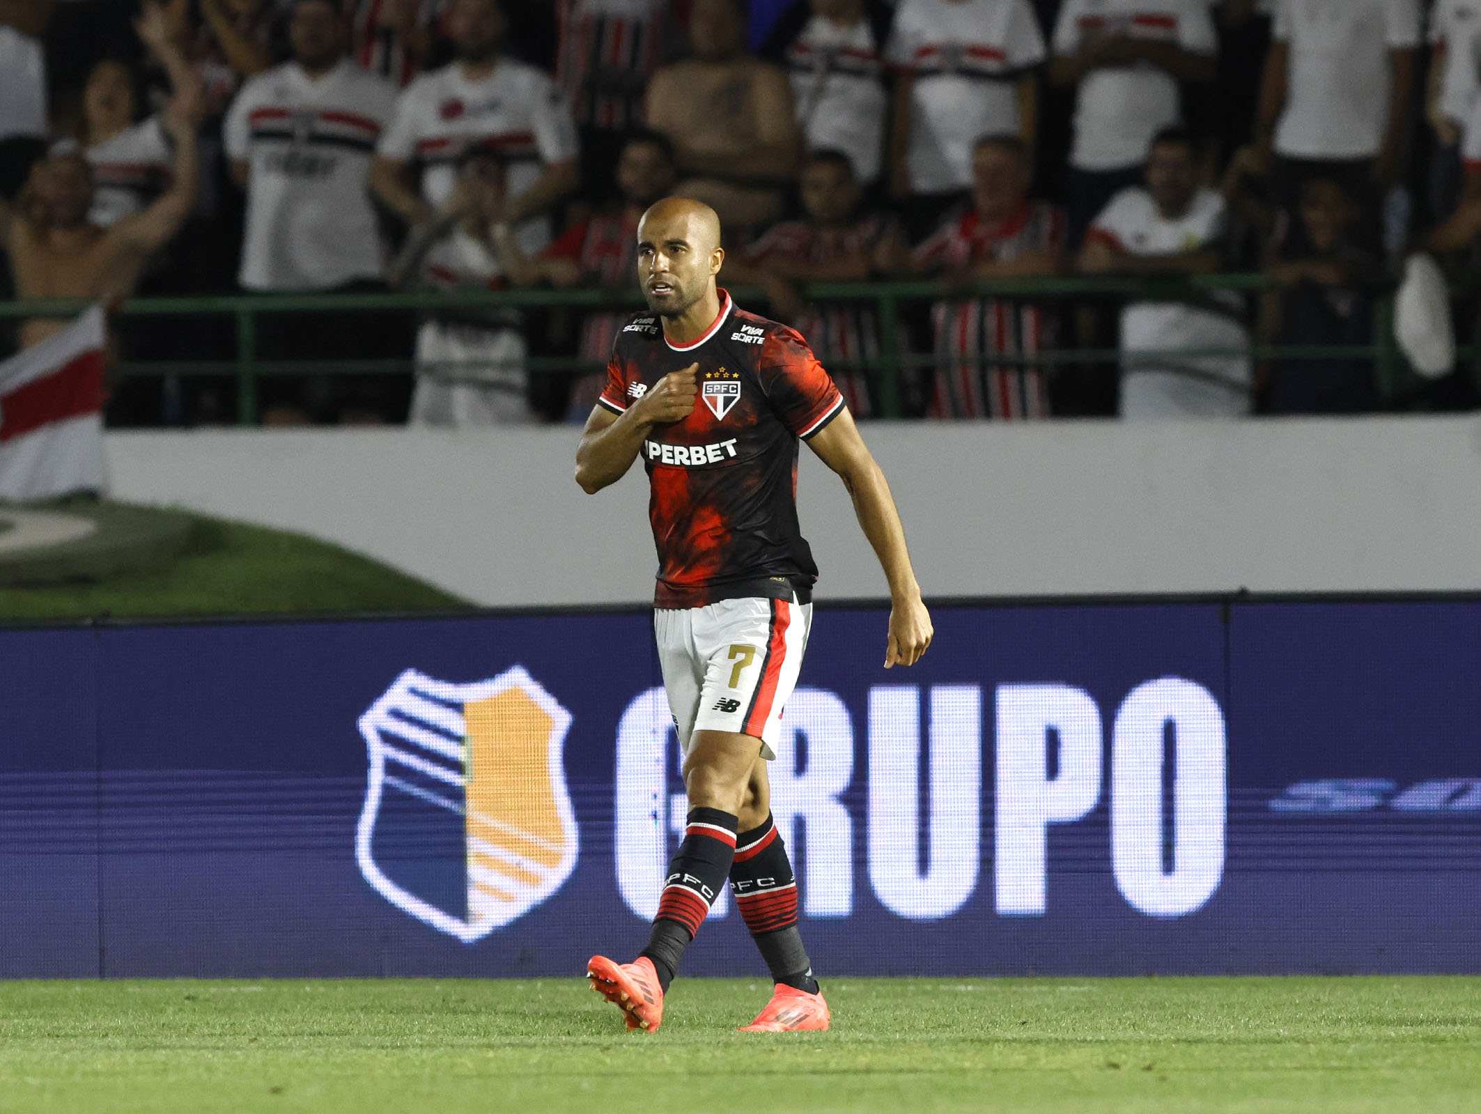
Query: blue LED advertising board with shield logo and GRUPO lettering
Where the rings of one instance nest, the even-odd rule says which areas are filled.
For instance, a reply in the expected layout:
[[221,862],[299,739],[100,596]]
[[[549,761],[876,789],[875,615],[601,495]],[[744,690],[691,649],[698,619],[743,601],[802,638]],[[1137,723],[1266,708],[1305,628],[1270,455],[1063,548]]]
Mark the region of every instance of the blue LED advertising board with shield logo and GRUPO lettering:
[[[1481,598],[819,606],[831,975],[1481,970]],[[640,610],[0,631],[0,975],[579,978],[684,816]],[[721,901],[686,966],[760,975]]]

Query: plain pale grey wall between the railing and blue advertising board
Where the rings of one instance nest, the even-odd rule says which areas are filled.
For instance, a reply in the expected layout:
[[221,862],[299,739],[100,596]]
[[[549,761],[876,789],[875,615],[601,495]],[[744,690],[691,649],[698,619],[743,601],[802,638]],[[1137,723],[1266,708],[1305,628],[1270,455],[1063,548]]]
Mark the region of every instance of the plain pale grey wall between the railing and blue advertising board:
[[[1481,590],[1475,416],[883,422],[935,596]],[[113,433],[114,493],[302,530],[484,606],[646,603],[641,470],[591,498],[570,428]],[[819,598],[886,585],[801,450]]]

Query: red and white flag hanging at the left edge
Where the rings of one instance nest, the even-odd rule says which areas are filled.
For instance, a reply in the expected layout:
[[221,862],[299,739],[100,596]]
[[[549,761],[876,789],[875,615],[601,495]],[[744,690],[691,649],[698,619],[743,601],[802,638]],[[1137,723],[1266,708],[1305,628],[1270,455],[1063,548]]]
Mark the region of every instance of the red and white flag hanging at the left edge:
[[93,307],[0,363],[0,501],[101,492],[102,372],[108,330]]

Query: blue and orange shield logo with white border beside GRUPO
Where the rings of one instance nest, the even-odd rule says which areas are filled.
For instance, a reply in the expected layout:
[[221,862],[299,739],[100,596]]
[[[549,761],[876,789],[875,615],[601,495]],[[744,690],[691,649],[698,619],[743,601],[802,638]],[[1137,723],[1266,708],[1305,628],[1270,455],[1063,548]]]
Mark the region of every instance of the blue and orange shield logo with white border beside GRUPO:
[[355,859],[397,908],[464,944],[523,917],[576,868],[561,750],[572,717],[515,665],[453,684],[406,670],[364,714]]

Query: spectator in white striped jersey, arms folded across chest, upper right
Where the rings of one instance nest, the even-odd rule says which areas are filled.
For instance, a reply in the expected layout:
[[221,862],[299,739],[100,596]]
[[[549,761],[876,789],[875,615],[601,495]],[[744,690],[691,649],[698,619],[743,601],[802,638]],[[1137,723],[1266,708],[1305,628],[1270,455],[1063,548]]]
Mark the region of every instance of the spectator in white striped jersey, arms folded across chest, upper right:
[[1179,121],[1179,81],[1214,76],[1208,0],[1065,0],[1054,25],[1054,84],[1075,86],[1065,176],[1071,243],[1115,194],[1142,181],[1152,136]]

